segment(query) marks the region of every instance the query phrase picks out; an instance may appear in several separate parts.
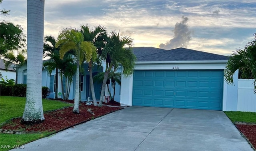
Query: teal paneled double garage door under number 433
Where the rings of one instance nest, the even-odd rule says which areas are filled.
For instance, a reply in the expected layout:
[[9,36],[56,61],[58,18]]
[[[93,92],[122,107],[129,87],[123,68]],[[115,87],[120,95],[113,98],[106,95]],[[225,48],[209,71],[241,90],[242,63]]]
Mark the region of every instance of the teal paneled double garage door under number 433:
[[137,70],[133,106],[222,110],[223,70]]

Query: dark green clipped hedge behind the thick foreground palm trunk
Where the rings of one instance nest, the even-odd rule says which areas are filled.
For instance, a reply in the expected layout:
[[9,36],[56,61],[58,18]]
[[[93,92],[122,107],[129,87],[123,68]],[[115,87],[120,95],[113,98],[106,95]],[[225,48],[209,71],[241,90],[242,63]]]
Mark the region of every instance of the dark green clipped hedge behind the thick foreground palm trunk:
[[[1,96],[26,96],[27,84],[12,84],[1,81],[0,87]],[[50,95],[50,89],[42,86],[42,98],[46,98],[48,95]]]

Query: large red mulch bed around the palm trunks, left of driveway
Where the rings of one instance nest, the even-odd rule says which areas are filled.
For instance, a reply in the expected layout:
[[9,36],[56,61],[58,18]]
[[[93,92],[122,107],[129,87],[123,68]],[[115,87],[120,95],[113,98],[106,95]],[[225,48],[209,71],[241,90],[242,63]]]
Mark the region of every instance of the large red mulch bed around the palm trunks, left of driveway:
[[[69,101],[66,101],[69,102]],[[73,101],[74,102],[74,101]],[[91,109],[95,115],[90,114],[87,112],[87,109]],[[116,107],[108,107],[108,106],[86,106],[84,103],[81,103],[79,106],[80,114],[72,113],[73,107],[65,108],[62,110],[57,110],[53,112],[48,112],[44,114],[44,122],[40,124],[34,125],[26,125],[21,124],[22,118],[13,119],[11,122],[8,122],[1,129],[8,129],[8,130],[22,130],[22,131],[60,131],[70,126],[74,126],[75,124],[79,124],[81,122],[85,122],[90,119],[94,119],[105,114],[121,110],[122,108]]]

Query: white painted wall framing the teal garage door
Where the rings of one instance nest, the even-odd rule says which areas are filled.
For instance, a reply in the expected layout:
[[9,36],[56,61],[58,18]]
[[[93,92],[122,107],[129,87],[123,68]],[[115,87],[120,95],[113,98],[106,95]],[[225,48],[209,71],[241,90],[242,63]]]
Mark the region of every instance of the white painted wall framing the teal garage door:
[[[226,68],[225,61],[176,61],[176,62],[152,62],[152,63],[142,63],[139,62],[135,65],[135,70],[173,70],[172,67],[179,67],[178,70],[224,70]],[[236,73],[238,74],[238,72]],[[238,79],[238,76],[234,76],[234,81]],[[121,84],[121,96],[120,104],[122,106],[132,106],[132,85],[133,76],[129,78],[124,78],[122,76]],[[223,86],[223,111],[226,110],[236,110],[233,104],[237,104],[237,86],[228,85],[224,81]]]

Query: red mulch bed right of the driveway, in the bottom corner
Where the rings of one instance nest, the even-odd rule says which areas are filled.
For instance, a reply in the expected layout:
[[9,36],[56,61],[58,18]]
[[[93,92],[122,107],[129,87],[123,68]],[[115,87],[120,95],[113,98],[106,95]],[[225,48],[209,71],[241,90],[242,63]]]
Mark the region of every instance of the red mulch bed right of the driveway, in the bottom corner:
[[236,125],[238,129],[246,136],[253,147],[256,149],[256,125]]

